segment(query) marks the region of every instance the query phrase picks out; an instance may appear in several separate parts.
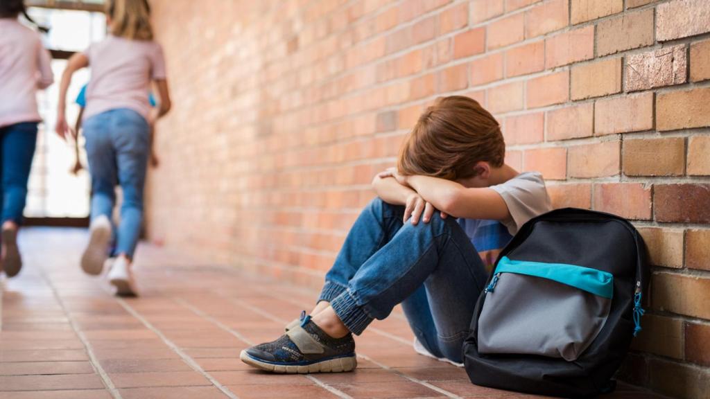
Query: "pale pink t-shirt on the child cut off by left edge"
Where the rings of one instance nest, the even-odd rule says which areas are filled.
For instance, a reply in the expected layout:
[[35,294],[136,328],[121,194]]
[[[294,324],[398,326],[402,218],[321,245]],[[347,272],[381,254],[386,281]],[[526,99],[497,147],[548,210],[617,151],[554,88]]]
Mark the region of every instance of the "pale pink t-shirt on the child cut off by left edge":
[[14,18],[0,18],[0,127],[41,121],[37,89],[53,82],[39,33]]

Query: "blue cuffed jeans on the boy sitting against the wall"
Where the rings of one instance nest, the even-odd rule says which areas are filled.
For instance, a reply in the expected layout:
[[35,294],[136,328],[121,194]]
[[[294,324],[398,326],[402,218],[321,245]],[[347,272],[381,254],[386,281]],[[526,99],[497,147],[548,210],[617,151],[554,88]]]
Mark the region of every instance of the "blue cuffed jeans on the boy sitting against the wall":
[[376,198],[350,230],[319,300],[361,334],[398,303],[425,348],[462,361],[476,300],[488,275],[456,219],[438,212],[425,224],[403,224],[404,207]]

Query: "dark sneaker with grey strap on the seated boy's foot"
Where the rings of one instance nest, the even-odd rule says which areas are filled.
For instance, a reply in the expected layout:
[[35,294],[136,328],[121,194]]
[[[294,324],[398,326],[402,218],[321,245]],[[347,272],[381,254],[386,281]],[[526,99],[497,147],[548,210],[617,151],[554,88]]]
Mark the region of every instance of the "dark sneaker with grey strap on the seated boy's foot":
[[352,334],[330,337],[310,316],[279,339],[241,351],[239,358],[273,373],[340,373],[357,366]]

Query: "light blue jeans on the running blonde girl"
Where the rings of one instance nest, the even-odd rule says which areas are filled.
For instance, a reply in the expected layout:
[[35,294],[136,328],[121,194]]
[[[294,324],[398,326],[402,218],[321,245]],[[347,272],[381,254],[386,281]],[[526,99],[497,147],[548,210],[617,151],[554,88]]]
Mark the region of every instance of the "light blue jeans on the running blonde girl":
[[149,148],[148,122],[132,109],[111,109],[84,121],[92,181],[91,219],[111,220],[116,185],[121,185],[121,223],[116,228],[116,254],[133,258],[143,222],[143,186]]

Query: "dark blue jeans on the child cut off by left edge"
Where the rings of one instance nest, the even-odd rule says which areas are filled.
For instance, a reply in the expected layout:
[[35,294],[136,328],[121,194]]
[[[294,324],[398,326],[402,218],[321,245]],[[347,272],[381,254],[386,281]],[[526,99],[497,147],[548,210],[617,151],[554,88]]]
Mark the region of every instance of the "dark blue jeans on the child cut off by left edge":
[[37,122],[0,128],[2,222],[22,222],[22,211],[27,200],[27,180],[36,144]]

